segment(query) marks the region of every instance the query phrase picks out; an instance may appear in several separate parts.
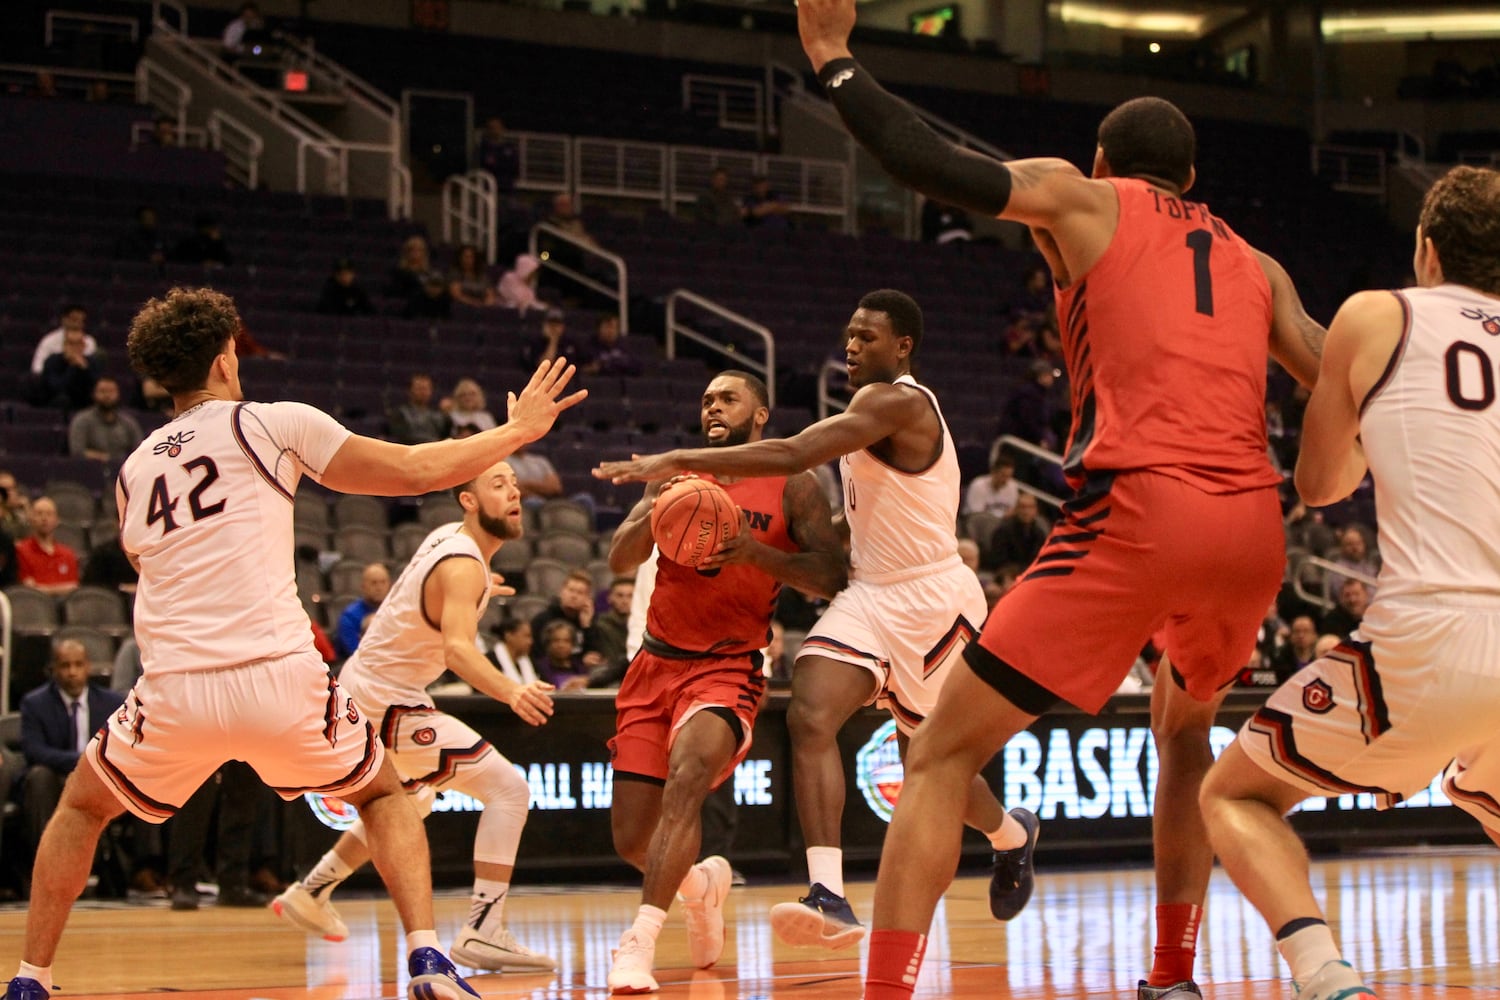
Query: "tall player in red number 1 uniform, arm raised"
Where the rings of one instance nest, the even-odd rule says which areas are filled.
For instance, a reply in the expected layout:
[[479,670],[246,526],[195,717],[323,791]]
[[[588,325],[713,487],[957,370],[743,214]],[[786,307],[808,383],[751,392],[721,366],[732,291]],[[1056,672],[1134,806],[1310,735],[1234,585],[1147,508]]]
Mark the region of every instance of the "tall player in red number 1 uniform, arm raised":
[[1052,265],[1072,376],[1065,469],[1078,490],[912,741],[880,859],[866,1000],[912,993],[957,865],[954,804],[974,774],[1058,702],[1098,711],[1158,628],[1158,945],[1138,994],[1197,997],[1214,864],[1197,805],[1208,735],[1284,562],[1266,355],[1311,385],[1323,328],[1275,261],[1184,198],[1196,138],[1173,105],[1113,109],[1092,177],[1059,159],[1002,163],[940,139],[882,90],[849,54],[854,21],[854,0],[798,4],[802,46],[855,139],[924,195],[1030,226]]

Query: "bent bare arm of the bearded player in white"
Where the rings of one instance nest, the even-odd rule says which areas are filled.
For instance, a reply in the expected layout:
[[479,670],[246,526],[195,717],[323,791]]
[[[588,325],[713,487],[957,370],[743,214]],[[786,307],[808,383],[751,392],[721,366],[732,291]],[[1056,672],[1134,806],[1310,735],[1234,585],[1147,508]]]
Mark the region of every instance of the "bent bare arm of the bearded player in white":
[[474,645],[474,609],[490,589],[489,574],[472,559],[444,559],[422,588],[423,613],[442,631],[442,664],[476,691],[504,702],[516,715],[540,726],[552,715],[552,685],[516,684],[480,655]]

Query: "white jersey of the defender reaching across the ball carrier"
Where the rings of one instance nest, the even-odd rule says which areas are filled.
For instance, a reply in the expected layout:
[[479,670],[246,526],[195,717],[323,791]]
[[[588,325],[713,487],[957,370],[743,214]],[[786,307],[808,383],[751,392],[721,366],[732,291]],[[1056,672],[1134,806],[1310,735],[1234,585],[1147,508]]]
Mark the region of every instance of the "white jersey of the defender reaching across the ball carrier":
[[952,435],[930,388],[918,385],[910,375],[897,378],[896,385],[910,385],[932,402],[942,427],[942,451],[921,472],[902,472],[868,450],[838,459],[849,522],[849,564],[858,579],[906,573],[958,553],[954,528],[962,483]]

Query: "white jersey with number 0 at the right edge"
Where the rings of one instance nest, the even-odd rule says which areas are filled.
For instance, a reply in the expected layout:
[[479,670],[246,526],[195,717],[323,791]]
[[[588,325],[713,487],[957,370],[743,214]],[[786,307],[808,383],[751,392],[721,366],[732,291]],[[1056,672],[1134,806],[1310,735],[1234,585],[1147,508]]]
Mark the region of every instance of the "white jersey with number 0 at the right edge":
[[1500,594],[1500,300],[1396,292],[1407,328],[1360,406],[1380,511],[1380,598]]

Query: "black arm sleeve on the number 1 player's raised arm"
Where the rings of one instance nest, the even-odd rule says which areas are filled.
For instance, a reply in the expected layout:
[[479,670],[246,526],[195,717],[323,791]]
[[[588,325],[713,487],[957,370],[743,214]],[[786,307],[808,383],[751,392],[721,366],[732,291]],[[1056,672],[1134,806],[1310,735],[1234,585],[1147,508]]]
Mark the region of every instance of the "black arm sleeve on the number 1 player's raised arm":
[[950,205],[987,216],[1005,210],[1011,199],[1010,168],[944,139],[860,63],[831,60],[818,73],[818,81],[849,133],[891,177]]

